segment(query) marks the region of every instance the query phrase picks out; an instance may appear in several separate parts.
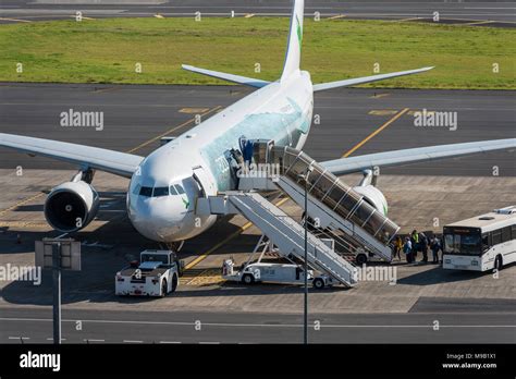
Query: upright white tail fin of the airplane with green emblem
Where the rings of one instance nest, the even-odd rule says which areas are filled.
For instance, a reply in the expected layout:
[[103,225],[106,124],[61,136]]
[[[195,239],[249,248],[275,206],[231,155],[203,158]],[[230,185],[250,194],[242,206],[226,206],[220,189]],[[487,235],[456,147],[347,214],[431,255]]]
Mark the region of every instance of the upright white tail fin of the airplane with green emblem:
[[305,14],[305,0],[294,0],[292,9],[291,28],[286,44],[285,63],[281,81],[299,71],[300,51],[303,41],[303,17]]

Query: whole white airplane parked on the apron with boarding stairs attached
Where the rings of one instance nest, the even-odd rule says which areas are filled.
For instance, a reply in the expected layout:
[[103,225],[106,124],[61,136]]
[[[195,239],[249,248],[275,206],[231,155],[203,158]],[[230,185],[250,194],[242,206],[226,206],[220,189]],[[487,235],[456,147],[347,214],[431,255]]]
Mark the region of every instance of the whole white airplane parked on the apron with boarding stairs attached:
[[[131,222],[144,236],[157,242],[182,242],[208,228],[217,216],[195,213],[197,198],[235,190],[233,164],[243,145],[253,139],[273,139],[275,145],[302,149],[308,137],[314,91],[421,73],[432,68],[312,84],[299,69],[304,1],[296,0],[291,17],[286,57],[281,78],[265,82],[183,65],[183,69],[259,88],[233,106],[182,134],[148,157],[42,138],[0,134],[0,146],[29,155],[74,163],[78,173],[53,188],[45,204],[49,224],[61,232],[86,227],[96,216],[99,196],[91,186],[95,170],[131,179],[126,207]],[[516,138],[484,140],[370,154],[321,162],[334,174],[360,172],[373,167],[457,157],[516,147]],[[363,194],[380,211],[384,197],[371,185]]]

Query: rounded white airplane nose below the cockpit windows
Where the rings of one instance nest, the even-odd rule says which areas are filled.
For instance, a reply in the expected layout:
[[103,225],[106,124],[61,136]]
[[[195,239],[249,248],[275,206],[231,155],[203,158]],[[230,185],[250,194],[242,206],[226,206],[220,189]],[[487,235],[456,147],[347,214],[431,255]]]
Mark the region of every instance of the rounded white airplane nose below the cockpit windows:
[[136,230],[158,242],[180,241],[185,206],[176,196],[138,198],[131,212]]

